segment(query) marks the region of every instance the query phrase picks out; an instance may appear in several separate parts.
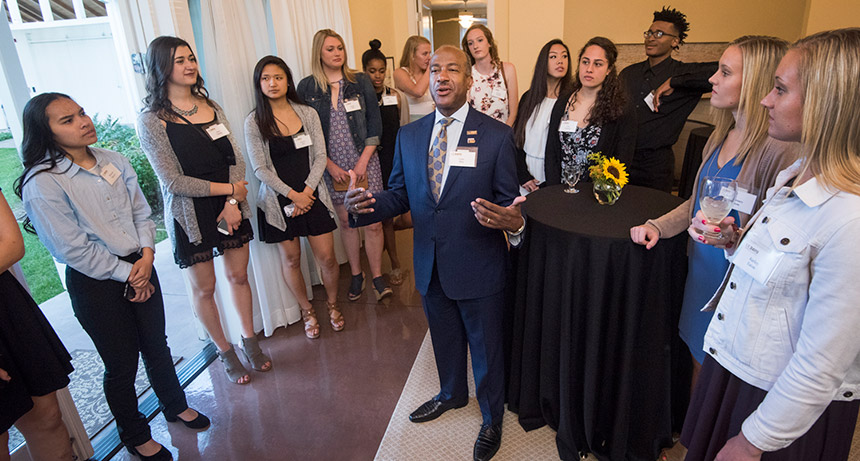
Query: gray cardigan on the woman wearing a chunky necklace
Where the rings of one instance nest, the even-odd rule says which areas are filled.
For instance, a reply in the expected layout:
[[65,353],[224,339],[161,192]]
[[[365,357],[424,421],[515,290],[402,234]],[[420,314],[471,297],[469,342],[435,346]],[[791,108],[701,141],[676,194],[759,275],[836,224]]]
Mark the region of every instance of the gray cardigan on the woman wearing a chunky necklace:
[[[242,150],[239,148],[236,138],[233,137],[230,122],[227,121],[227,116],[224,115],[221,106],[214,101],[211,103],[215,109],[216,119],[230,131],[227,137],[230,139],[230,144],[233,145],[233,152],[236,157],[236,164],[230,167],[230,182],[242,181],[245,179],[245,159],[242,157]],[[193,198],[209,197],[210,182],[205,179],[185,176],[179,159],[176,158],[176,153],[167,138],[165,122],[158,118],[154,112],[146,111],[138,115],[137,134],[140,137],[140,146],[149,159],[149,163],[152,164],[155,174],[158,175],[159,182],[161,182],[161,193],[164,196],[164,224],[167,226],[168,235],[171,240],[174,239],[176,235],[174,220],[176,220],[185,234],[188,235],[188,241],[199,245],[203,241],[203,237],[200,234],[200,225],[194,211]],[[239,203],[239,210],[242,212],[243,219],[251,216],[251,207],[248,206],[247,200]],[[173,245],[175,249],[175,241]]]

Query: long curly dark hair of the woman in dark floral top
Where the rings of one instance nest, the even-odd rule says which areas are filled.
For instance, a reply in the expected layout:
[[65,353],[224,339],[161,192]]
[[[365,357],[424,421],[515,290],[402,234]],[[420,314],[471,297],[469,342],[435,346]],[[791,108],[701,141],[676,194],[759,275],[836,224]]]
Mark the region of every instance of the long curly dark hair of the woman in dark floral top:
[[618,49],[612,40],[606,37],[594,37],[587,41],[579,50],[579,57],[576,59],[576,78],[573,80],[573,91],[579,91],[582,88],[582,82],[579,80],[579,61],[582,55],[585,54],[586,48],[592,45],[597,45],[603,49],[606,54],[606,64],[609,66],[609,73],[606,74],[606,79],[603,81],[603,86],[600,92],[597,93],[597,100],[594,102],[594,107],[588,114],[588,123],[603,125],[609,122],[614,122],[621,117],[624,112],[624,105],[627,104],[627,97],[624,89],[621,87],[621,82],[618,79],[618,70],[615,68],[615,61],[618,60]]

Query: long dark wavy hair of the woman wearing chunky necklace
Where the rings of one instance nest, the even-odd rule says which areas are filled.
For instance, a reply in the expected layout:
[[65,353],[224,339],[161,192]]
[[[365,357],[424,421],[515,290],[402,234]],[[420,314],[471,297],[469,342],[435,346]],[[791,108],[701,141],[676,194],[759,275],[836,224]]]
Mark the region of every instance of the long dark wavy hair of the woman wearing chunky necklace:
[[[170,99],[167,97],[167,81],[170,79],[170,74],[173,72],[173,59],[176,56],[176,49],[181,46],[187,46],[191,49],[191,45],[185,40],[178,37],[170,37],[162,35],[149,43],[146,49],[146,97],[143,98],[143,104],[146,110],[155,112],[162,118],[173,118],[175,112]],[[197,82],[191,86],[191,94],[201,97],[206,100],[210,106],[209,92],[203,86],[203,77],[200,72],[197,72]]]

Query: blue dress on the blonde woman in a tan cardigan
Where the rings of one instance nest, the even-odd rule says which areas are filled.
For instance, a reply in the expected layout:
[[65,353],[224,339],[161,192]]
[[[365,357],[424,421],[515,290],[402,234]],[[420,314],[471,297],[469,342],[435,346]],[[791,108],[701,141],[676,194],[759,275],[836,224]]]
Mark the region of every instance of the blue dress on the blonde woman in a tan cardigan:
[[[741,171],[743,162],[735,165],[734,160],[721,167],[717,164],[717,157],[720,156],[722,145],[717,147],[711,158],[702,166],[702,172],[699,174],[699,188],[701,193],[702,182],[708,176],[719,176],[726,179],[737,179],[738,173]],[[693,205],[693,215],[699,212],[699,198],[693,197],[695,204]],[[735,222],[740,219],[737,210],[732,210],[729,216],[735,218]],[[713,312],[701,312],[702,307],[711,299],[711,296],[720,287],[723,281],[723,276],[729,269],[729,262],[726,260],[726,255],[723,250],[712,247],[710,245],[701,245],[694,242],[690,248],[690,264],[687,269],[687,284],[684,287],[684,303],[681,307],[681,319],[678,322],[678,330],[681,334],[681,339],[690,348],[690,353],[697,362],[703,363],[705,360],[705,332],[708,330],[708,324],[711,323]]]

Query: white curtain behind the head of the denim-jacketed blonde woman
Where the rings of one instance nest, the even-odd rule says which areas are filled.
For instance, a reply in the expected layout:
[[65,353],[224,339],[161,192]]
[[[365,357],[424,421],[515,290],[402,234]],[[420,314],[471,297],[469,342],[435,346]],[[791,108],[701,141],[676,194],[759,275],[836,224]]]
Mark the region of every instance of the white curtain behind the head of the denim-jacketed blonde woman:
[[352,25],[348,0],[270,0],[275,43],[280,56],[296,80],[311,74],[311,44],[320,29],[332,29],[346,42],[347,65],[355,48],[352,43]]

